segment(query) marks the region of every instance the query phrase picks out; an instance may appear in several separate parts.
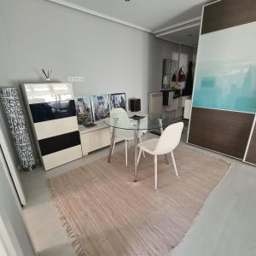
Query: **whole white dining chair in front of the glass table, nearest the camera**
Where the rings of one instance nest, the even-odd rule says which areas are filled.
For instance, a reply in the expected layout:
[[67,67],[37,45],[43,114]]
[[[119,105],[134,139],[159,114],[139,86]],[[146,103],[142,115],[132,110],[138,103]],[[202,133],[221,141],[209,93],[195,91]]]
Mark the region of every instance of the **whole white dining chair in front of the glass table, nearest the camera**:
[[138,144],[140,148],[137,163],[139,163],[142,151],[147,152],[148,154],[154,155],[154,189],[157,189],[157,156],[160,154],[172,155],[172,163],[174,170],[177,174],[177,166],[173,155],[173,149],[175,149],[180,142],[180,138],[183,131],[183,122],[178,122],[173,125],[166,127],[166,130],[163,131],[160,138],[153,138],[143,143]]

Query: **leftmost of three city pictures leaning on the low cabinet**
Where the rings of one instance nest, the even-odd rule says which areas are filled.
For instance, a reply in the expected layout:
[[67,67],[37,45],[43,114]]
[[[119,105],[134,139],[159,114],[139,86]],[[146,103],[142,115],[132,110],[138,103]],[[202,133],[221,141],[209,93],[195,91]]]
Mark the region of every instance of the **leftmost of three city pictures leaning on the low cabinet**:
[[79,96],[74,98],[79,125],[93,122],[90,96]]

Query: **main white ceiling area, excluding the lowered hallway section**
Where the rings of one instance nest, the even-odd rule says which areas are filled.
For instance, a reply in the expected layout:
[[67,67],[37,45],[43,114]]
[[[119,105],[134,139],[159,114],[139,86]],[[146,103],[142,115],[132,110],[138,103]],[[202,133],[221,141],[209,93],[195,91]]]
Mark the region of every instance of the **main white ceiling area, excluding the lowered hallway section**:
[[49,0],[71,3],[114,19],[155,32],[201,15],[206,0]]

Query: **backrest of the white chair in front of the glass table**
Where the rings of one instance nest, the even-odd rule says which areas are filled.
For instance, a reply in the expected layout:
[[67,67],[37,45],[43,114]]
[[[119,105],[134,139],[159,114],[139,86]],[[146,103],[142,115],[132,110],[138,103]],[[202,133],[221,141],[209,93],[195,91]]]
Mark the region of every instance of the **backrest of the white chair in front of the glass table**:
[[183,125],[183,122],[178,122],[176,124],[167,126],[166,130],[163,131],[162,135],[160,136],[159,142],[154,149],[154,153],[167,154],[176,148],[180,142]]

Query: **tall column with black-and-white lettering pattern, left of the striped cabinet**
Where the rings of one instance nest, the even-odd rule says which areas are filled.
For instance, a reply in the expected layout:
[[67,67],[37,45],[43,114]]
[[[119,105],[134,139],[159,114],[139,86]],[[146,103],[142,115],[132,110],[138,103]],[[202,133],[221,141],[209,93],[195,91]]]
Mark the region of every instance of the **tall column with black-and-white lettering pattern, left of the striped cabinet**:
[[9,131],[14,139],[20,166],[23,169],[31,168],[36,164],[36,160],[28,136],[19,90],[17,88],[0,88],[0,98],[8,120]]

